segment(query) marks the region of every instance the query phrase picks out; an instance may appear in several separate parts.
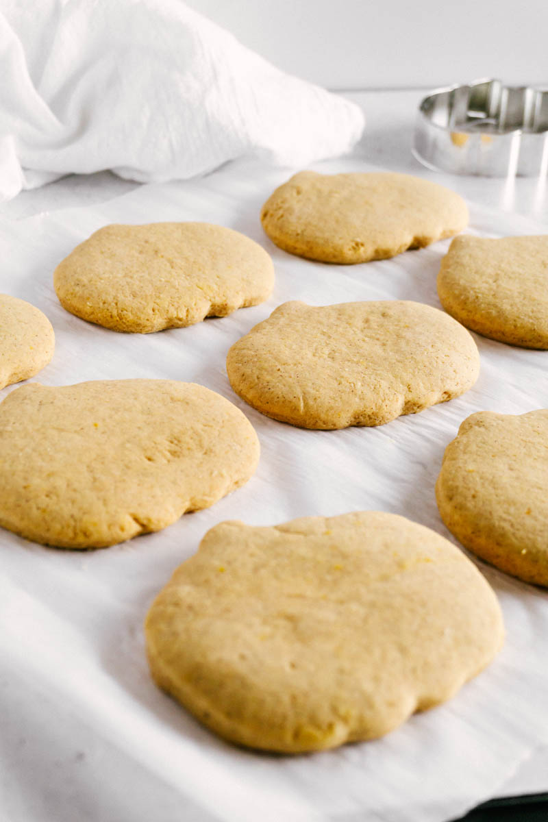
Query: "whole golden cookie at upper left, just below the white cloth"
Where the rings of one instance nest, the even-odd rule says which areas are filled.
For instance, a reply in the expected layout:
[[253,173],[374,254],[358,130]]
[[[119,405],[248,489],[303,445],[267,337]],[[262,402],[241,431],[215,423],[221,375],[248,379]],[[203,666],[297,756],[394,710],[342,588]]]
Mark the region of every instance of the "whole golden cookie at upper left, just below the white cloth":
[[274,266],[260,245],[220,225],[107,225],[59,264],[53,284],[72,314],[145,334],[263,302]]

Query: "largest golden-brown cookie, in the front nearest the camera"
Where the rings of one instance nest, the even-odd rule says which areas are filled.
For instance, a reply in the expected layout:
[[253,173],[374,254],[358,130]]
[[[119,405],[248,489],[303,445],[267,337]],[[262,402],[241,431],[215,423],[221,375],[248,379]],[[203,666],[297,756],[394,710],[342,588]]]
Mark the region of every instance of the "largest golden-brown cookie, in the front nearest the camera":
[[374,511],[215,526],[145,629],[163,690],[222,737],[286,753],[382,736],[454,696],[504,637],[463,552]]

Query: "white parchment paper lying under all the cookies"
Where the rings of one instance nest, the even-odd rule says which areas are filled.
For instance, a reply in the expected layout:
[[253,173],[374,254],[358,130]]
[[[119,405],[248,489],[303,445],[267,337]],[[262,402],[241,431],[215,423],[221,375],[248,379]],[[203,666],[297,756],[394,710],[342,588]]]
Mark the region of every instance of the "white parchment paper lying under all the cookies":
[[[350,159],[315,168],[370,170]],[[259,161],[239,162],[200,181],[141,187],[103,205],[0,224],[0,291],[33,302],[56,333],[53,362],[36,381],[197,381],[246,413],[262,449],[245,487],[126,544],[68,552],[0,532],[2,819],[441,822],[495,795],[548,742],[548,594],[479,561],[504,610],[503,651],[454,700],[379,741],[297,758],[238,750],[150,680],[145,612],[214,524],[371,509],[406,515],[447,537],[434,485],[459,423],[477,410],[548,405],[548,353],[478,335],[481,376],[472,390],[378,428],[304,431],[233,395],[224,369],[229,346],[280,302],[398,298],[440,307],[435,276],[449,240],[361,266],[315,264],[274,247],[258,214],[287,177]],[[471,212],[471,233],[546,232],[524,218],[474,205]],[[276,269],[269,301],[154,335],[117,334],[60,307],[52,272],[76,242],[110,222],[173,219],[228,225],[260,242]]]

